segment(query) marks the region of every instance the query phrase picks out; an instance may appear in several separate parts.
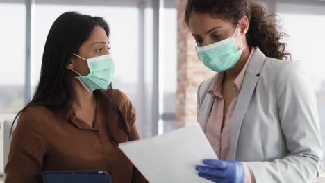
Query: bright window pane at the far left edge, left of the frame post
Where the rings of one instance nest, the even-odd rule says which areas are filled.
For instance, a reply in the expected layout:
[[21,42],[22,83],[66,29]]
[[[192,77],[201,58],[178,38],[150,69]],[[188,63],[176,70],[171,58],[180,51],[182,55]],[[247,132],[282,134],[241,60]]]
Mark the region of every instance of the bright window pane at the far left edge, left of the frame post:
[[[26,8],[24,1],[0,1],[0,125],[24,106]],[[17,22],[19,22],[17,24]],[[0,134],[2,134],[0,127]],[[0,135],[3,147],[3,136]],[[1,148],[2,149],[2,148]],[[0,153],[0,174],[3,153]]]

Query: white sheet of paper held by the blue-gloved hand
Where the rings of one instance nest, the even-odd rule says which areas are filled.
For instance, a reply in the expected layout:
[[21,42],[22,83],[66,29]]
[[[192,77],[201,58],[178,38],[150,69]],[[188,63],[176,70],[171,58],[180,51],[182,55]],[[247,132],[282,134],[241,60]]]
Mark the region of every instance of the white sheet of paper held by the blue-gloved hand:
[[199,123],[119,148],[151,183],[210,182],[197,175],[203,159],[217,159]]

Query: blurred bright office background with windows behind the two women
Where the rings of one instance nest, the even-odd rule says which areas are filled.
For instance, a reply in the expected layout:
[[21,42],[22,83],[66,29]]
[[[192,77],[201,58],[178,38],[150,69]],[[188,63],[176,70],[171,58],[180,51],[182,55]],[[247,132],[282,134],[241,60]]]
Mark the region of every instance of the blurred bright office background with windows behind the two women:
[[[325,142],[325,1],[259,0],[278,15],[288,51],[315,90]],[[142,138],[196,122],[196,89],[213,76],[197,59],[183,22],[186,0],[0,0],[0,125],[12,120],[37,87],[53,21],[67,11],[104,17],[115,59],[113,87],[138,113]],[[3,128],[0,128],[0,174]],[[324,143],[323,142],[323,143]],[[325,145],[325,143],[324,143]],[[324,159],[325,160],[325,159]]]

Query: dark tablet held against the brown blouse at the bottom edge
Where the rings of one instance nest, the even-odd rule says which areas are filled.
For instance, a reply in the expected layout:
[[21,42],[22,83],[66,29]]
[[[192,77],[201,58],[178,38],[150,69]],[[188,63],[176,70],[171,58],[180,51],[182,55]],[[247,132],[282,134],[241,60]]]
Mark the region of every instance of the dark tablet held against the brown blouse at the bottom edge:
[[44,171],[45,183],[111,183],[106,171]]

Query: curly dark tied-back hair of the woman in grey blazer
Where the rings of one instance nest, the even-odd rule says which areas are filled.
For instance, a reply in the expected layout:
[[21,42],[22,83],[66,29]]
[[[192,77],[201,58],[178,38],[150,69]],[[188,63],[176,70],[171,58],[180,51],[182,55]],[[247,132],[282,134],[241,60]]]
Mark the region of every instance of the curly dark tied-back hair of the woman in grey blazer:
[[267,57],[281,60],[291,59],[285,51],[287,44],[282,38],[287,34],[279,32],[275,14],[267,14],[267,10],[253,0],[188,0],[185,10],[185,22],[188,24],[192,12],[209,13],[232,21],[234,26],[247,16],[249,30],[246,34],[247,44],[258,47]]

